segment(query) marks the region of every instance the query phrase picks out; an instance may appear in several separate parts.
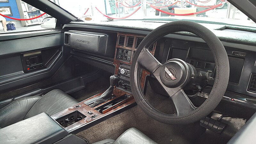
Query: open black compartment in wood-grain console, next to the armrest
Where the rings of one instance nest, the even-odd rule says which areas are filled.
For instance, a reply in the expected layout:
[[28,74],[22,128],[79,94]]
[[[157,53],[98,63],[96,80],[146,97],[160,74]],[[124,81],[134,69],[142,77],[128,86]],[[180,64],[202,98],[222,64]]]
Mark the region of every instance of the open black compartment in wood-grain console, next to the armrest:
[[74,124],[82,119],[84,119],[86,116],[84,116],[79,111],[74,111],[72,113],[69,113],[68,115],[62,116],[60,118],[57,118],[56,121],[63,127],[67,127],[71,124]]

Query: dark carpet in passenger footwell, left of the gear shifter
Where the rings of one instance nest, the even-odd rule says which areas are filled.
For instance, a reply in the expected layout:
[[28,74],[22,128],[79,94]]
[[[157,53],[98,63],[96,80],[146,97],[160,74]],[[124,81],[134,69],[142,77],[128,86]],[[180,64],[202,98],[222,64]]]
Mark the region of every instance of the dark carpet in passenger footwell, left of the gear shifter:
[[84,89],[70,93],[69,95],[76,100],[83,101],[97,93],[106,91],[109,85],[109,77],[100,76],[98,79],[86,84]]

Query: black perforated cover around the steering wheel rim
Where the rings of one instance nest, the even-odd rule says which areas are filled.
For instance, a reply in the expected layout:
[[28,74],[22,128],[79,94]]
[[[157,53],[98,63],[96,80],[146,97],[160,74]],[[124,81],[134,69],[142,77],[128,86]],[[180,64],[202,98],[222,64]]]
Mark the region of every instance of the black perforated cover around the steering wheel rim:
[[[145,95],[142,92],[140,86],[141,66],[137,62],[137,59],[143,47],[148,48],[163,36],[179,31],[187,31],[194,33],[206,42],[206,44],[211,49],[215,60],[216,77],[209,97],[204,101],[204,103],[200,107],[196,108],[195,110],[186,115],[173,116],[158,111],[156,108],[150,105],[148,100],[145,98]],[[220,100],[222,99],[228,86],[228,55],[223,44],[220,42],[220,39],[216,35],[214,35],[212,31],[210,31],[209,29],[205,28],[204,26],[198,23],[191,21],[174,21],[166,23],[154,29],[142,40],[132,59],[130,76],[132,93],[135,98],[135,101],[146,114],[148,114],[155,120],[165,124],[194,123],[200,120],[202,117],[210,114],[212,110],[214,110],[214,108],[216,108],[217,105],[220,103]]]

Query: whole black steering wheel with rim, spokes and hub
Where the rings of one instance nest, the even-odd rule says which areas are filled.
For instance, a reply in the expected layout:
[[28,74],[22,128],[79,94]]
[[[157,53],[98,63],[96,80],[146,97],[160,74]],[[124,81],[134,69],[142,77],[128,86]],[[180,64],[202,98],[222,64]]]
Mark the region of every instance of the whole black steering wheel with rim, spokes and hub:
[[[208,98],[199,107],[193,105],[183,89],[184,87],[192,87],[199,81],[205,81],[205,77],[209,77],[209,73],[203,76],[199,72],[200,69],[180,59],[171,59],[161,64],[148,51],[148,48],[163,36],[180,31],[191,32],[201,37],[211,49],[214,57],[216,65],[215,81]],[[145,98],[140,86],[140,75],[143,68],[155,76],[159,84],[168,93],[174,104],[174,114],[158,111]],[[142,40],[133,56],[130,77],[135,101],[146,114],[165,124],[194,123],[210,114],[220,103],[228,86],[228,55],[219,38],[209,29],[191,21],[174,21],[154,29]]]

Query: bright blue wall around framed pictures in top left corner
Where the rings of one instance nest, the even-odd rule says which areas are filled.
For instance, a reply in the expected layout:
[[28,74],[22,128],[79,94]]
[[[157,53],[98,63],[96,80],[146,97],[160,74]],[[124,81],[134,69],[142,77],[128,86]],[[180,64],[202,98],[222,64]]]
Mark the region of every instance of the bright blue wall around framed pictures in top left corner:
[[[9,0],[8,3],[0,3],[0,7],[2,7],[2,6],[10,6],[11,7],[12,16],[9,16],[9,17],[20,19],[20,13],[18,11],[16,0]],[[6,19],[6,21],[12,21],[12,19],[8,19],[8,18],[5,18],[5,19]]]

